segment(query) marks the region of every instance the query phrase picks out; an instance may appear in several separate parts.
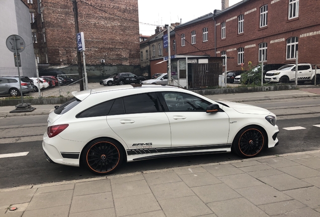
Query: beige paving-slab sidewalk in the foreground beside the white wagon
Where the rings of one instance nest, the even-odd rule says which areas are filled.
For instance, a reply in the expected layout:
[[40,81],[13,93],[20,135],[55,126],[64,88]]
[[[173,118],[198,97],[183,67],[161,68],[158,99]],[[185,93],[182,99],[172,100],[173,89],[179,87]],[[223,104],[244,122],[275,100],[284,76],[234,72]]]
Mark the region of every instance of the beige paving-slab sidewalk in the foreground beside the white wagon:
[[320,150],[0,189],[0,216],[318,217]]

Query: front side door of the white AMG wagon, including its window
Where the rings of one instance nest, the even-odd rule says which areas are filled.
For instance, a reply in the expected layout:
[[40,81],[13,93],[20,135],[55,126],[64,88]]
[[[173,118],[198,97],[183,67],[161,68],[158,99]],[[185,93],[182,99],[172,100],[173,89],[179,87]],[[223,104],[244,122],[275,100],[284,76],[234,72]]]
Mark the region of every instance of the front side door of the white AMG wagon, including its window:
[[229,134],[226,113],[206,113],[211,103],[198,96],[179,92],[163,92],[162,95],[169,110],[166,115],[171,127],[172,151],[181,147],[190,150],[230,147],[226,145]]

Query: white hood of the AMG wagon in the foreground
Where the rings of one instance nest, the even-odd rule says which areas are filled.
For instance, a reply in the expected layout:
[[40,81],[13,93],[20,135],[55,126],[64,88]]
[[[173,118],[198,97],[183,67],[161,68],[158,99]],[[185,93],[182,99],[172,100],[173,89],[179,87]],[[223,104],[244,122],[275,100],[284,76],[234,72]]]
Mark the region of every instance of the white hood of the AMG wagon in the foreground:
[[217,101],[217,102],[221,102],[222,104],[225,104],[230,108],[233,108],[236,112],[242,113],[242,114],[253,114],[253,115],[269,115],[270,114],[270,112],[265,108],[257,107],[255,105],[243,104],[239,102],[230,102],[230,101]]

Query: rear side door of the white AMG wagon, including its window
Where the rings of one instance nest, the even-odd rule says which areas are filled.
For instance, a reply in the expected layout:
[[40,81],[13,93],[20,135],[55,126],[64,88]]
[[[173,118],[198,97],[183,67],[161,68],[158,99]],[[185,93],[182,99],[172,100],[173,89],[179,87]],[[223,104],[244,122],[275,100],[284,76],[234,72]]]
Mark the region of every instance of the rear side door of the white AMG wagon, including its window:
[[155,93],[116,99],[107,122],[131,150],[143,149],[147,153],[171,146],[169,120]]

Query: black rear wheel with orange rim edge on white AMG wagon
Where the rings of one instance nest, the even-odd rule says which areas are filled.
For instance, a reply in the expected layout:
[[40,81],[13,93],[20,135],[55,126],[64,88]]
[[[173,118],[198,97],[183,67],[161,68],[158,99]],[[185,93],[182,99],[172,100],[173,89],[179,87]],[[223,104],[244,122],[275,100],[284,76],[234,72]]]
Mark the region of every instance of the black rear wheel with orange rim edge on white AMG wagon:
[[84,164],[92,173],[106,175],[120,167],[124,153],[118,142],[98,139],[88,144],[82,157]]

